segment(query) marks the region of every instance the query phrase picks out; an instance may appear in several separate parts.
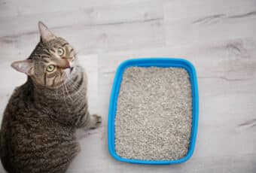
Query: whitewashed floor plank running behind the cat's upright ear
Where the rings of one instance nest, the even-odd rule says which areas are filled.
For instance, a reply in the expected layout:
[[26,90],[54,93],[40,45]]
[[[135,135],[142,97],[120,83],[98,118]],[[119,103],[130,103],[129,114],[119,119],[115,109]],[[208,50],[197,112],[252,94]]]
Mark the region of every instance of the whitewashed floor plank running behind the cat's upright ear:
[[[165,44],[163,31],[163,20],[53,29],[56,35],[66,38],[78,53],[90,54],[109,50],[163,46]],[[5,60],[26,58],[38,40],[38,32],[0,38],[2,45],[0,54]]]

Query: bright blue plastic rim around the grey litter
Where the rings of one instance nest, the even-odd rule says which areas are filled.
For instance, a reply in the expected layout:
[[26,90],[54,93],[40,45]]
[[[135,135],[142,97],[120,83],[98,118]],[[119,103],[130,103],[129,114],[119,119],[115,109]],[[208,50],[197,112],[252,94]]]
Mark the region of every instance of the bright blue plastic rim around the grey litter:
[[[187,155],[181,159],[176,160],[141,160],[141,159],[126,159],[117,155],[114,147],[114,120],[116,115],[117,108],[117,99],[120,90],[120,84],[122,82],[123,71],[126,68],[136,66],[136,67],[176,67],[184,68],[187,70],[190,75],[190,83],[192,90],[192,129],[190,134],[190,144],[187,151]],[[199,97],[198,97],[198,87],[197,87],[197,74],[190,62],[185,59],[171,59],[171,58],[145,58],[145,59],[129,59],[125,62],[122,62],[117,68],[114,83],[112,86],[111,97],[109,102],[108,109],[108,150],[111,156],[114,159],[117,159],[120,162],[130,162],[130,163],[139,163],[139,164],[151,164],[151,165],[168,165],[168,164],[178,164],[186,162],[187,159],[190,159],[194,153],[194,147],[196,144],[197,138],[197,124],[198,124],[198,114],[199,114]]]

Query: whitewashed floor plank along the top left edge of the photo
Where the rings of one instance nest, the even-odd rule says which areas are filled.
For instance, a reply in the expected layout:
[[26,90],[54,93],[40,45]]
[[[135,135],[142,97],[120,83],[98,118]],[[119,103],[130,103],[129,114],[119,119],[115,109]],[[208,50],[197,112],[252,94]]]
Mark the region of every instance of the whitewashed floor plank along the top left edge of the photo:
[[[148,0],[44,0],[33,1],[23,0],[6,0],[0,2],[0,17],[17,17],[20,15],[52,13],[56,11],[79,11],[81,9],[98,7],[111,7],[113,5],[130,5],[137,2],[149,2]],[[136,7],[135,7],[136,8]]]

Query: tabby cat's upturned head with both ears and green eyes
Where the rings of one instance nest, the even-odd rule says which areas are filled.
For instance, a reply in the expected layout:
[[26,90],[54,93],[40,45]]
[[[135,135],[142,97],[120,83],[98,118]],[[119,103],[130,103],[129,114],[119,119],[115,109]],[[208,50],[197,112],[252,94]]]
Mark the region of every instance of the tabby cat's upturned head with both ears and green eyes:
[[61,86],[75,69],[75,50],[65,39],[50,32],[44,23],[39,22],[38,27],[41,39],[29,59],[13,62],[11,66],[39,85]]

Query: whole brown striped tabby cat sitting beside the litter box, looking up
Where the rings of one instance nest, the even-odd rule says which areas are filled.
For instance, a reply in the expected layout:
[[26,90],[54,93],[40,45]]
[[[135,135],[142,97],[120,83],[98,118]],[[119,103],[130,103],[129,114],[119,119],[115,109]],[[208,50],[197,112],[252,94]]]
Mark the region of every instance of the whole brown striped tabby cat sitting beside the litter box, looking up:
[[11,66],[27,75],[5,108],[0,134],[2,165],[9,173],[62,173],[80,150],[75,130],[95,129],[90,115],[87,76],[75,50],[44,23],[41,39],[28,59]]

